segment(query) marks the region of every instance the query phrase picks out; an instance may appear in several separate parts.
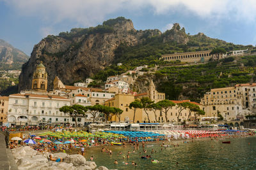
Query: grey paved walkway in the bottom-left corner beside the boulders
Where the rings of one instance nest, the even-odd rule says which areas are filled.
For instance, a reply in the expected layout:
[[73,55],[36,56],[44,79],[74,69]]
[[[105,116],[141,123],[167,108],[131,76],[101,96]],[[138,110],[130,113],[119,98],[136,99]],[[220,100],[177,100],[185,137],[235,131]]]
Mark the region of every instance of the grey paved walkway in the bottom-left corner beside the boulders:
[[17,170],[17,165],[13,158],[10,148],[6,148],[3,134],[0,134],[0,169]]

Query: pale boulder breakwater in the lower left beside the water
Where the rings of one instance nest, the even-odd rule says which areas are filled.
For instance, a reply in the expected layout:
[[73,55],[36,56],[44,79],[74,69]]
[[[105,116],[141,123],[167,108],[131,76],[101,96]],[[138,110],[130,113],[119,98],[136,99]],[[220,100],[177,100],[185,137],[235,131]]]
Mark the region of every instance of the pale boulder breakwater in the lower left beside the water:
[[67,153],[53,153],[54,157],[62,158],[63,162],[54,162],[49,160],[48,152],[37,152],[30,146],[22,146],[12,150],[13,157],[18,166],[18,169],[68,169],[68,170],[108,170],[107,167],[97,167],[95,162],[86,161],[79,154],[68,155]]

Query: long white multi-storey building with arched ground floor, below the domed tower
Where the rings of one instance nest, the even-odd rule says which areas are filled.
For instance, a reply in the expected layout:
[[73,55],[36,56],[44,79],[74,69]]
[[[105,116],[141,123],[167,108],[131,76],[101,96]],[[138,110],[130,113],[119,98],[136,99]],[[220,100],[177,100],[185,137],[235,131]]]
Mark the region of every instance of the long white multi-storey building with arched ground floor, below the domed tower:
[[62,106],[70,106],[70,99],[38,94],[12,94],[9,96],[8,122],[12,125],[69,124],[70,116],[59,110]]

